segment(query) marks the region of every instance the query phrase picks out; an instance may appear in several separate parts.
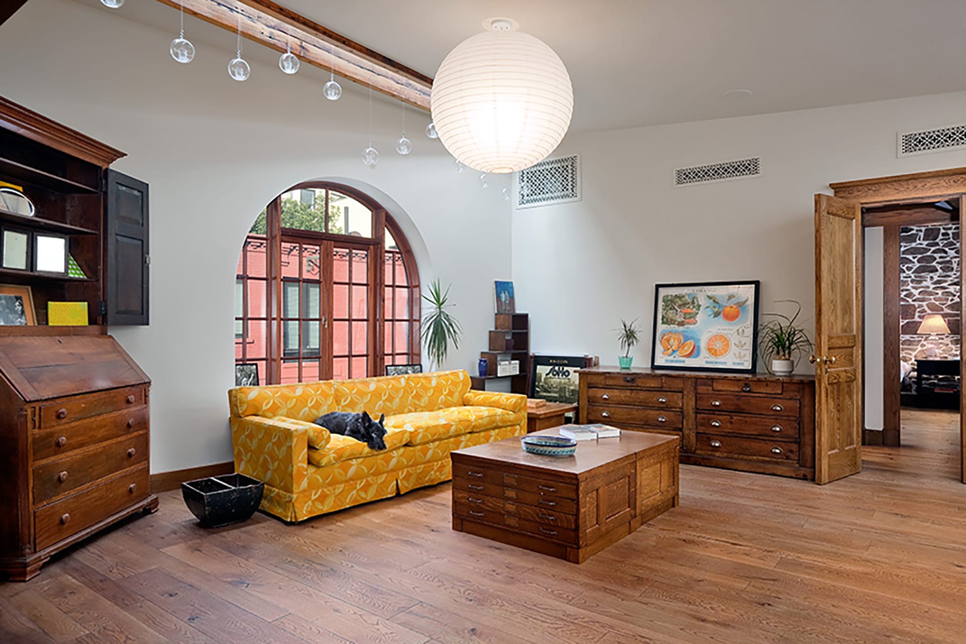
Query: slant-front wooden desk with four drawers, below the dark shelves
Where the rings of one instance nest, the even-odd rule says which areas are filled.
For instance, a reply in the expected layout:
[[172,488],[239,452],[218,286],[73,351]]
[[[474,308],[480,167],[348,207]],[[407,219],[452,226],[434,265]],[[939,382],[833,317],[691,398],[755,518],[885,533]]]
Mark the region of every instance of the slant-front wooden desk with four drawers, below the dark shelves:
[[17,581],[39,574],[51,554],[157,508],[151,381],[102,327],[75,328],[0,337],[0,573]]

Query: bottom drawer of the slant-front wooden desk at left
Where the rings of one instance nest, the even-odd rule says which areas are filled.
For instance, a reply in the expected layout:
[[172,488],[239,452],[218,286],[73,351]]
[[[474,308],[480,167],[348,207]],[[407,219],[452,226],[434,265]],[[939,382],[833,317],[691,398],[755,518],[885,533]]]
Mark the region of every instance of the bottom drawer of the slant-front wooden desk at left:
[[148,496],[150,476],[144,465],[34,512],[35,549],[52,546]]

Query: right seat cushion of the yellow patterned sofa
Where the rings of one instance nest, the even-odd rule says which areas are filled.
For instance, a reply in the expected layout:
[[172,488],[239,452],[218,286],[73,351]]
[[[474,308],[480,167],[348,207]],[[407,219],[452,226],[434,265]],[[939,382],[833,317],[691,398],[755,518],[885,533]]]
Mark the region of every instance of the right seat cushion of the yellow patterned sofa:
[[454,406],[436,411],[413,411],[389,416],[385,419],[385,429],[403,429],[410,433],[410,445],[483,432],[520,422],[519,414],[505,409],[484,406]]

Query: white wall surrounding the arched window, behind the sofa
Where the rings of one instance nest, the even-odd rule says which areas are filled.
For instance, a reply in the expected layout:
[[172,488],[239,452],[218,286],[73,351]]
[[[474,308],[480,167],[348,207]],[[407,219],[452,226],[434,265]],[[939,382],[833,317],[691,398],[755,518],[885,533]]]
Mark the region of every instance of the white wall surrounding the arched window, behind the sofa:
[[[111,333],[153,378],[152,470],[231,460],[226,390],[234,381],[234,282],[241,241],[290,185],[341,178],[373,194],[405,228],[423,282],[452,282],[465,330],[447,366],[471,368],[493,325],[493,280],[511,274],[506,180],[479,187],[454,172],[428,117],[410,112],[414,152],[394,152],[401,108],[377,99],[377,169],[362,165],[366,95],[344,83],[322,97],[319,70],[282,74],[246,42],[252,74],[225,66],[234,45],[195,41],[189,65],[167,53],[174,32],[123,12],[32,0],[0,28],[0,93],[124,150],[114,167],[151,185],[151,325]],[[170,12],[172,29],[177,14]],[[198,29],[200,23],[193,22]],[[217,32],[223,34],[223,32]]]

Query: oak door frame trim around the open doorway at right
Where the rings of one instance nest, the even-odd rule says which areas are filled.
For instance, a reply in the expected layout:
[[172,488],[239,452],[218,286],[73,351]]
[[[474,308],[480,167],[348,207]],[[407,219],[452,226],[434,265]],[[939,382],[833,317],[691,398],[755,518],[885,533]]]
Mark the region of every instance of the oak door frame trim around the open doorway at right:
[[[942,201],[944,199],[959,199],[960,209],[966,205],[966,167],[931,170],[905,175],[877,177],[851,182],[829,183],[836,197],[859,202],[863,208],[870,206],[903,206],[921,204],[926,201]],[[959,285],[960,292],[966,282],[966,262],[963,261],[966,250],[966,235],[959,236]],[[960,296],[960,318],[966,318],[966,297]],[[966,380],[966,347],[960,334],[959,365],[959,472],[963,483],[966,483],[966,391],[962,382]],[[897,416],[897,413],[895,414]],[[883,435],[883,438],[886,436]],[[897,437],[897,436],[896,436]]]

